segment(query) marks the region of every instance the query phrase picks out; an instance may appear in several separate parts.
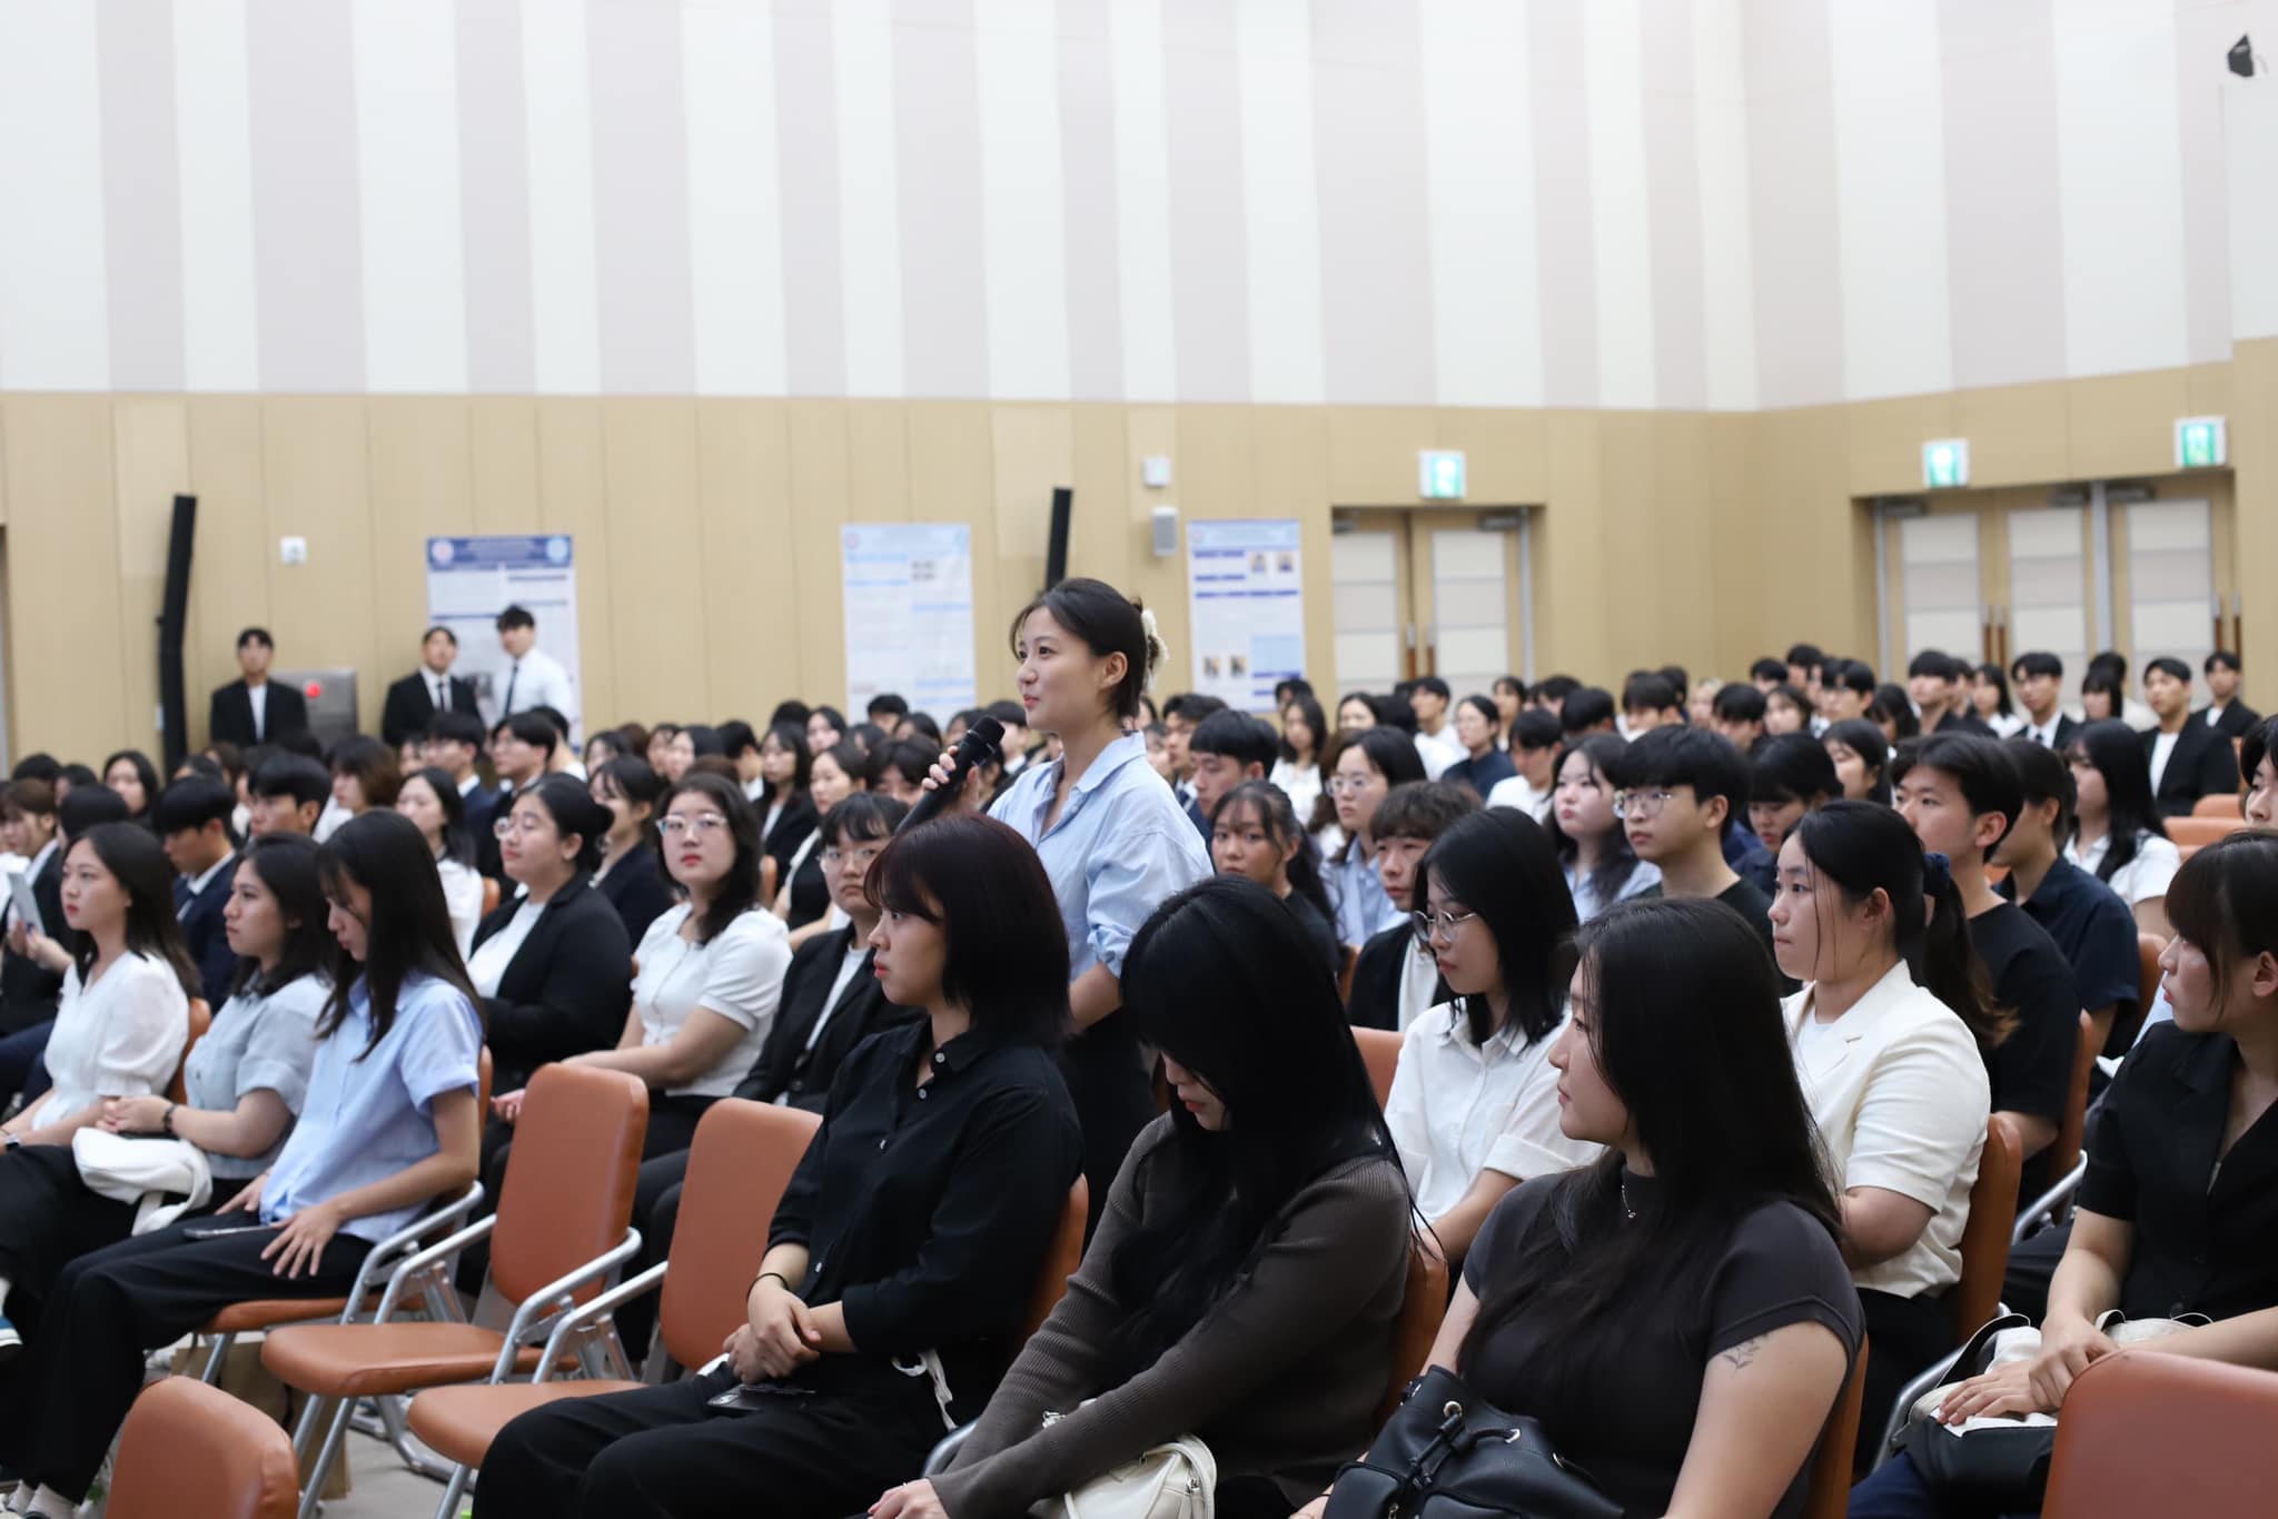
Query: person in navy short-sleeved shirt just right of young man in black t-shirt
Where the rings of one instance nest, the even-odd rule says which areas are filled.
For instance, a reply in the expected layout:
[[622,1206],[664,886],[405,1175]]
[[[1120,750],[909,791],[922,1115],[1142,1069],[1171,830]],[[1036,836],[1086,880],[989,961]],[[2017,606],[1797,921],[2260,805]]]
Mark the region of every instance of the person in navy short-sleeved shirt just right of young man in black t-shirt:
[[2128,1054],[2144,1011],[2134,918],[2119,893],[2057,847],[2073,822],[2073,772],[2064,758],[2025,736],[2009,740],[2007,754],[2025,806],[1993,852],[1993,863],[2009,870],[1998,890],[2048,929],[2073,968],[2073,993],[2096,1023],[2096,1048]]

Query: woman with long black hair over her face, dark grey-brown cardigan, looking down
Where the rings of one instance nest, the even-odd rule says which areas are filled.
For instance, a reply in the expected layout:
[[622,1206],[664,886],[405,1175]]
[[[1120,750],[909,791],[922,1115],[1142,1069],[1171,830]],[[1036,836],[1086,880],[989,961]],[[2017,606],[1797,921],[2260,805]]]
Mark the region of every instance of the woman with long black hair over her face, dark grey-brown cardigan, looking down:
[[1175,1107],[950,1469],[877,1519],[1021,1514],[1187,1432],[1216,1460],[1212,1512],[1278,1517],[1367,1444],[1417,1239],[1310,959],[1244,881],[1191,886],[1139,931],[1123,986]]

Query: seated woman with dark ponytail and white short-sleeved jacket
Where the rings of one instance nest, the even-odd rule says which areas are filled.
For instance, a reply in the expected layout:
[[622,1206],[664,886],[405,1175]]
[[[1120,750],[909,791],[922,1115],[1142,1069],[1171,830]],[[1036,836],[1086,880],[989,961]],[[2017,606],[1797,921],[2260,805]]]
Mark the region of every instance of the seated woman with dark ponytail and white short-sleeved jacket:
[[1795,1075],[1841,1187],[1843,1259],[1873,1353],[1859,1458],[1898,1389],[1955,1348],[1945,1291],[1993,1111],[1982,1043],[2000,1036],[1943,861],[1907,820],[1832,802],[1788,834],[1772,952]]

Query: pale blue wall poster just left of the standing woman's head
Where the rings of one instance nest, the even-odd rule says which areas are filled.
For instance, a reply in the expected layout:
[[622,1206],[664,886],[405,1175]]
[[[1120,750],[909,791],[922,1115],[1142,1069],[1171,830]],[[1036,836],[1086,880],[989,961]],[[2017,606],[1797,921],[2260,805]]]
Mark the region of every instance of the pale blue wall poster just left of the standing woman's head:
[[838,531],[847,715],[895,692],[945,722],[977,706],[973,531],[961,522],[850,522]]

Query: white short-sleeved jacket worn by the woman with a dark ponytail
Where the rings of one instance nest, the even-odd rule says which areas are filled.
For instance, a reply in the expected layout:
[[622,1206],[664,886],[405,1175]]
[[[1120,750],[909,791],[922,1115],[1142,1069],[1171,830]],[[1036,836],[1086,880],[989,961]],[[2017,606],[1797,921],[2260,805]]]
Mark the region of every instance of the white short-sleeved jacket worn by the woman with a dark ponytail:
[[1914,984],[1904,961],[1806,1036],[1811,997],[1804,986],[1779,1007],[1838,1187],[1882,1187],[1932,1209],[1920,1239],[1879,1266],[1854,1268],[1852,1280],[1900,1298],[1943,1291],[1961,1280],[1961,1230],[1993,1116],[1977,1038]]

